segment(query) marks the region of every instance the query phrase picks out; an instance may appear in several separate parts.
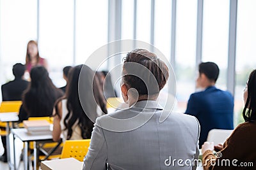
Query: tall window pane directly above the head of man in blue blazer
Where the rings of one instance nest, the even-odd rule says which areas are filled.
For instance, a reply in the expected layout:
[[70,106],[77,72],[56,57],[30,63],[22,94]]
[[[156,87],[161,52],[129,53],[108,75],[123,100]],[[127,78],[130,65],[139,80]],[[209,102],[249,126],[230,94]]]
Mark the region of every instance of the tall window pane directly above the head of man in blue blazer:
[[220,67],[216,85],[227,89],[229,0],[204,1],[202,61]]

